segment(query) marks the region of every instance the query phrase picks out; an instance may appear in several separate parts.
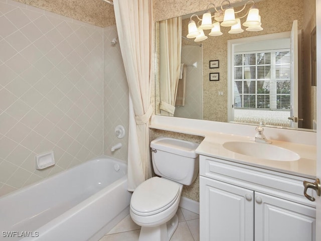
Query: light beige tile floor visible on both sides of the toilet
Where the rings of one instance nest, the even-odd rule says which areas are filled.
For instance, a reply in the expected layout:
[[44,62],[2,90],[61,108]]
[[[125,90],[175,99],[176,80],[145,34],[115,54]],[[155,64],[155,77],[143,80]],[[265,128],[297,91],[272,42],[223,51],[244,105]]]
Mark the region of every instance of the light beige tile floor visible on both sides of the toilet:
[[[179,218],[179,226],[173,234],[171,241],[199,241],[200,216],[181,207],[179,207],[177,215]],[[137,241],[139,231],[140,226],[134,223],[128,214],[99,241]]]

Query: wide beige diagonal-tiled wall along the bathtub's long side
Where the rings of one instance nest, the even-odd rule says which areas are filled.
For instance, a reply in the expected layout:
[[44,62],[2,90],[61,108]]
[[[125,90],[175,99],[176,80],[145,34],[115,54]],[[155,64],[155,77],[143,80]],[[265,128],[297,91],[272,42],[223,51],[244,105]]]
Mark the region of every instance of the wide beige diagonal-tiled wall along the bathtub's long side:
[[[103,29],[11,0],[0,26],[4,195],[103,154]],[[51,150],[56,165],[36,170]]]

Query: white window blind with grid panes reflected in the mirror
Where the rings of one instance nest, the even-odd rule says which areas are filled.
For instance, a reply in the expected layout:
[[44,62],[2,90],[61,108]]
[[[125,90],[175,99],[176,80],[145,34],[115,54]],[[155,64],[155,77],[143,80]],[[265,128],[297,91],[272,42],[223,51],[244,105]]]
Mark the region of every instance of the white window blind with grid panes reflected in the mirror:
[[235,53],[235,109],[290,109],[289,49]]

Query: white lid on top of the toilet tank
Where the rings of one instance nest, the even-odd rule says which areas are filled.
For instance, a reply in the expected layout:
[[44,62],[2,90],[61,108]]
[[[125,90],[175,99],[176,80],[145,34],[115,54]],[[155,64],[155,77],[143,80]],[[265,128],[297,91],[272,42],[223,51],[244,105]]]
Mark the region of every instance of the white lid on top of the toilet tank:
[[197,158],[195,153],[199,144],[169,137],[158,137],[150,142],[150,147],[159,151],[174,153],[184,157]]

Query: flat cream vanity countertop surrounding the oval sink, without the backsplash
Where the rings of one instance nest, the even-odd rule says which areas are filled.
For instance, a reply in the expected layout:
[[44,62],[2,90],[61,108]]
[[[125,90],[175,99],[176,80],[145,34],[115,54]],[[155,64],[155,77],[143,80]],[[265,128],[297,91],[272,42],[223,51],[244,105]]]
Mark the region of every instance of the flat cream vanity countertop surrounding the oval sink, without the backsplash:
[[242,163],[287,174],[293,174],[301,177],[313,179],[315,178],[315,146],[271,140],[272,144],[262,145],[274,145],[277,147],[285,148],[287,150],[295,152],[300,156],[300,159],[298,159],[297,161],[273,161],[229,151],[223,147],[223,144],[230,141],[254,143],[254,138],[231,134],[212,133],[205,137],[205,139],[196,149],[196,153],[208,157],[224,159],[232,162]]

